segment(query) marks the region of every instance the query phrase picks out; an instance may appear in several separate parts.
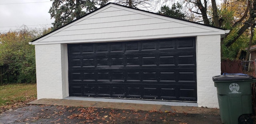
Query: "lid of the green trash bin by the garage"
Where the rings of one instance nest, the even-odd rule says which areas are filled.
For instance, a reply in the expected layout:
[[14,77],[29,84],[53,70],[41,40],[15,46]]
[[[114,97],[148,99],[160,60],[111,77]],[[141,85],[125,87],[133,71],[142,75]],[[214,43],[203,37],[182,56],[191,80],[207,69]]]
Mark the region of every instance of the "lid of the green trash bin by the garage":
[[253,80],[256,79],[252,76],[242,74],[242,73],[223,73],[223,75],[218,75],[212,77],[213,81],[239,81],[239,80]]

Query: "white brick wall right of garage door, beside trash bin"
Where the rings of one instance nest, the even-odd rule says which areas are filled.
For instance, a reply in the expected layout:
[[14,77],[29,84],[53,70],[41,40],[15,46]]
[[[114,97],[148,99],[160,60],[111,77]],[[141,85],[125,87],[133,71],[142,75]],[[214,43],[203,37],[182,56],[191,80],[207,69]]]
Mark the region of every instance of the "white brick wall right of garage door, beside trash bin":
[[217,90],[212,77],[220,75],[220,35],[197,36],[198,106],[218,108]]

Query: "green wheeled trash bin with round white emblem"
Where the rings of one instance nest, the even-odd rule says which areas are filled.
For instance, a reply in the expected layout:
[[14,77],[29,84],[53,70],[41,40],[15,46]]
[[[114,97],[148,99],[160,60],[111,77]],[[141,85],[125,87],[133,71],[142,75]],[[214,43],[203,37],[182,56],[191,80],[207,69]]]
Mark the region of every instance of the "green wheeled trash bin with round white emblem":
[[242,73],[212,77],[217,87],[220,117],[223,124],[253,124],[251,83],[256,78]]

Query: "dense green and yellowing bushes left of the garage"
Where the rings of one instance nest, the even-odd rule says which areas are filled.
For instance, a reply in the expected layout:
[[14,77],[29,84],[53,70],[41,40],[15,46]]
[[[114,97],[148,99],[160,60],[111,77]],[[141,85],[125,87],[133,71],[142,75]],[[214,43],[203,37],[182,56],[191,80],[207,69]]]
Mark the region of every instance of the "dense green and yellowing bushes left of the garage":
[[28,42],[46,32],[24,28],[0,33],[0,84],[36,82],[35,49]]

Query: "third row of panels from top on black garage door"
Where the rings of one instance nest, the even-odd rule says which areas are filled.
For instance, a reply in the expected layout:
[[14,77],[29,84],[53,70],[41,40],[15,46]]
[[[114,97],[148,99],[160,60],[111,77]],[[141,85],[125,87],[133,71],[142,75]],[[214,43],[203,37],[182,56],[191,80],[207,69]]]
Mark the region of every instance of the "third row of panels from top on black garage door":
[[[184,82],[196,84],[196,69],[131,69],[116,71],[116,70],[86,70],[80,73],[81,70],[74,70],[69,73],[70,81],[121,81],[124,83],[129,82]],[[165,84],[165,83],[164,83]]]

